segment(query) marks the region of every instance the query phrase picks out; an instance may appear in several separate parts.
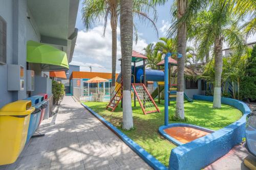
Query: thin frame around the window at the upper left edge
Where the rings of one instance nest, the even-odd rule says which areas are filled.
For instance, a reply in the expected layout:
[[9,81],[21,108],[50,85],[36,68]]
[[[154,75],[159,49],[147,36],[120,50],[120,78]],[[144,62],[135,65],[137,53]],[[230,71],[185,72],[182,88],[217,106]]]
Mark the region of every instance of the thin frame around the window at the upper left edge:
[[[3,23],[3,31],[0,31],[0,34],[3,34],[3,43],[0,42],[0,45],[2,46],[3,45],[3,52],[4,54],[1,55],[0,54],[0,65],[5,65],[7,64],[7,22],[6,20],[0,16],[0,21]],[[2,61],[3,59],[3,61]]]

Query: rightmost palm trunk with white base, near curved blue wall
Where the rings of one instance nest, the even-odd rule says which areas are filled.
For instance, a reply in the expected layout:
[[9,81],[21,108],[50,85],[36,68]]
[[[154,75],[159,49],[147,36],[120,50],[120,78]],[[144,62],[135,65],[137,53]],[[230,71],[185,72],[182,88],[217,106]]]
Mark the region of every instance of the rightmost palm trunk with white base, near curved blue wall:
[[214,42],[215,50],[215,82],[213,108],[221,108],[221,74],[222,74],[222,38],[218,36]]

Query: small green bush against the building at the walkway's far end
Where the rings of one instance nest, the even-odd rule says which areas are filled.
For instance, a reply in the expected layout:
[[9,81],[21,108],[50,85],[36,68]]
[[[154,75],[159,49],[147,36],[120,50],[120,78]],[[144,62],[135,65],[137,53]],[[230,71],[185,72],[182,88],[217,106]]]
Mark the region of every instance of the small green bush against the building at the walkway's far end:
[[52,81],[53,104],[58,104],[65,96],[65,86],[59,82]]

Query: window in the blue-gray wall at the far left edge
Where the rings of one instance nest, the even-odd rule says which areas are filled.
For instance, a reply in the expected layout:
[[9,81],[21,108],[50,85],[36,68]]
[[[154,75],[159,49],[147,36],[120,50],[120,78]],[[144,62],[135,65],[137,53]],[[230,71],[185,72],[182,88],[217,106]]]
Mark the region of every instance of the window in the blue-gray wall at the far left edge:
[[6,21],[0,16],[0,64],[6,64]]

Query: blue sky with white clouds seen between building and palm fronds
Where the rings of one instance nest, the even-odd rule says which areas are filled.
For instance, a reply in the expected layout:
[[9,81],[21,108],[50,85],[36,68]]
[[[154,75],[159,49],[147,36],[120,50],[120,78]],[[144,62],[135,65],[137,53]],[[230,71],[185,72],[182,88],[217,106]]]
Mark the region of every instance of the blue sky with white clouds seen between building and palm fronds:
[[[85,30],[82,23],[82,1],[80,1],[76,28],[78,28],[78,36],[72,62],[70,64],[80,65],[81,71],[95,72],[111,72],[111,53],[112,53],[112,37],[111,27],[108,24],[106,27],[106,33],[103,37],[103,25],[102,22],[95,24],[89,30]],[[167,29],[171,24],[170,7],[173,1],[169,1],[164,6],[158,6],[158,19],[156,26],[159,32],[159,37],[163,37],[166,34]],[[154,29],[148,24],[141,24],[135,19],[135,24],[138,29],[138,42],[133,43],[133,50],[143,53],[143,48],[147,44],[157,42],[158,37]],[[256,34],[250,37],[247,41],[255,41]],[[190,44],[189,44],[190,45]],[[117,73],[120,71],[121,47],[120,47],[120,29],[117,29]]]

